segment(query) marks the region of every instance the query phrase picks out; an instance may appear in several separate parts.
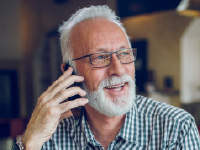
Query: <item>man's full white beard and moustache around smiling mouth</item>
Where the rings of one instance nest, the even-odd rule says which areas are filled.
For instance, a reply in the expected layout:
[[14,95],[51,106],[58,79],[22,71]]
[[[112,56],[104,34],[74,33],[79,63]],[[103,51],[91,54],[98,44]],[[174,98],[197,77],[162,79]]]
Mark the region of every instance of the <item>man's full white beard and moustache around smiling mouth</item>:
[[[116,85],[127,82],[128,93],[117,98],[108,98],[104,93],[104,88],[110,85]],[[98,112],[112,117],[126,114],[133,106],[136,96],[135,81],[128,74],[121,77],[111,76],[101,81],[98,90],[90,92],[84,85],[84,90],[87,92],[89,105],[96,109]]]

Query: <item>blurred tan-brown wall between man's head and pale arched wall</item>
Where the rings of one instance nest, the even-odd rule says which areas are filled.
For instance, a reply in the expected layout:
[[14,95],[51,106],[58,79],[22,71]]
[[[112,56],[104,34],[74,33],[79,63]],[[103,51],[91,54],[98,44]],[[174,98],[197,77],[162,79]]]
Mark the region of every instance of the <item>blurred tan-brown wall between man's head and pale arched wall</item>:
[[180,90],[180,37],[191,18],[175,11],[125,18],[123,23],[133,40],[148,40],[148,69],[155,71],[156,87],[163,90],[163,79],[172,76],[174,89]]

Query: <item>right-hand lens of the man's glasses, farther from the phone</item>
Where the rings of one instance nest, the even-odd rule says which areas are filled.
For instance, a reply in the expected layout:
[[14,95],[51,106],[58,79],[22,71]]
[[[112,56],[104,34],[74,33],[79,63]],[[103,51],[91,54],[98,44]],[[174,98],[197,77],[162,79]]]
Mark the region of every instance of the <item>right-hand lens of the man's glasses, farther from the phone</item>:
[[135,49],[123,49],[117,53],[121,63],[127,64],[135,61]]

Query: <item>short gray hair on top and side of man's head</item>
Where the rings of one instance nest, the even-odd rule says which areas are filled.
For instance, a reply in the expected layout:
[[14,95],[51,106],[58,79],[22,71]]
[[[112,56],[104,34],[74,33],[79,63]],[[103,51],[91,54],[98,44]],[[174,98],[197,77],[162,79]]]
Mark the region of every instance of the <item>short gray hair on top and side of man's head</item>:
[[87,19],[95,19],[95,18],[105,18],[115,24],[117,24],[125,33],[126,38],[130,44],[129,37],[126,34],[126,30],[123,27],[122,23],[119,20],[119,17],[116,16],[115,12],[112,11],[106,5],[99,6],[90,6],[79,9],[76,13],[74,13],[66,22],[63,22],[63,25],[59,27],[60,32],[60,44],[62,50],[63,63],[69,62],[69,64],[75,68],[75,64],[72,61],[73,51],[72,45],[70,44],[70,34],[72,28],[79,22],[82,22]]

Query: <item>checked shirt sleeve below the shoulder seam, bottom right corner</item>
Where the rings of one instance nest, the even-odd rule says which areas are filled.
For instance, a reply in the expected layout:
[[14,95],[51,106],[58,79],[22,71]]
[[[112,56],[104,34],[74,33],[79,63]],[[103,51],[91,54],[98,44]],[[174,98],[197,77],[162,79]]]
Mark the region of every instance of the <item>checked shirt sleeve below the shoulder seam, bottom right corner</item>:
[[200,136],[193,118],[183,123],[176,149],[200,150]]

